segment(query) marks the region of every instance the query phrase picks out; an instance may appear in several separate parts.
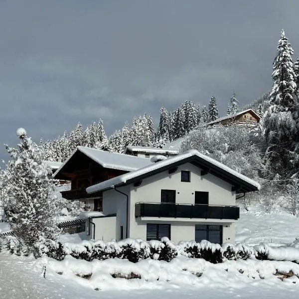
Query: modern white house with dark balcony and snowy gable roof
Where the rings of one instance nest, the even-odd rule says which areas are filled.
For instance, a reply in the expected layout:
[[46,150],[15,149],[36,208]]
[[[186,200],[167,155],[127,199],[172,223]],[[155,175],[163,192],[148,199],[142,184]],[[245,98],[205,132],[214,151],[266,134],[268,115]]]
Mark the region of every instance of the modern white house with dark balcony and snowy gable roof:
[[102,194],[105,216],[89,216],[87,235],[234,243],[236,193],[259,188],[252,179],[190,150],[88,187],[90,196]]

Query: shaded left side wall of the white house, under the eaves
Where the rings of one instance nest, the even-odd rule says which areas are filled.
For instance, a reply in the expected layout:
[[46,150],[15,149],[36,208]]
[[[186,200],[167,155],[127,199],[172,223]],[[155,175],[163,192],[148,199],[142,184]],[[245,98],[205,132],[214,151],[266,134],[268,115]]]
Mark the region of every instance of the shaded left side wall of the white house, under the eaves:
[[[120,191],[129,195],[130,187],[125,186],[118,188]],[[116,233],[113,239],[119,240],[121,238],[121,226],[123,226],[124,239],[126,238],[126,218],[127,218],[127,198],[125,195],[112,190],[103,192],[103,214],[109,215],[116,213]],[[129,237],[129,236],[128,236]]]

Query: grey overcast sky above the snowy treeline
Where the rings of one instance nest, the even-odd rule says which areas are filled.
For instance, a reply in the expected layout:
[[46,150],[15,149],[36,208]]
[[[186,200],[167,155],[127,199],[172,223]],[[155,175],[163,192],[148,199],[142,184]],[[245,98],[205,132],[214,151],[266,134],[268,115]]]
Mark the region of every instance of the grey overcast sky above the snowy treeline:
[[212,95],[223,115],[233,90],[246,104],[271,88],[282,28],[299,54],[298,11],[298,0],[0,1],[0,141],[99,118],[111,134]]

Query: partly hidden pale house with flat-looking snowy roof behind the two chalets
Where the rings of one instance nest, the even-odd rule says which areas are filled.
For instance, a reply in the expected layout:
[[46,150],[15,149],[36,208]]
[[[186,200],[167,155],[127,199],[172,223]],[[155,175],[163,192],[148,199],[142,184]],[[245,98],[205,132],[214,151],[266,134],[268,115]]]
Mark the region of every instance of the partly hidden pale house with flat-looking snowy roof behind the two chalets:
[[172,149],[127,146],[124,153],[143,158],[152,158],[155,155],[163,155],[168,158],[177,155],[178,151]]

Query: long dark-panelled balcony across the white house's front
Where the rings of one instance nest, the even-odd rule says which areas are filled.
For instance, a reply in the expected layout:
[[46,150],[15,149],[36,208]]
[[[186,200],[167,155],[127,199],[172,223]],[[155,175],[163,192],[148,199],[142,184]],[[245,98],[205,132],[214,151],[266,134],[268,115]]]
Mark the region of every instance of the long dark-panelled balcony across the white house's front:
[[135,205],[135,218],[140,217],[237,220],[240,218],[240,208],[208,204],[138,202]]

